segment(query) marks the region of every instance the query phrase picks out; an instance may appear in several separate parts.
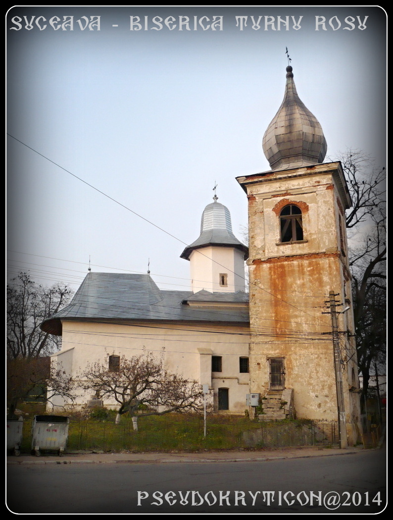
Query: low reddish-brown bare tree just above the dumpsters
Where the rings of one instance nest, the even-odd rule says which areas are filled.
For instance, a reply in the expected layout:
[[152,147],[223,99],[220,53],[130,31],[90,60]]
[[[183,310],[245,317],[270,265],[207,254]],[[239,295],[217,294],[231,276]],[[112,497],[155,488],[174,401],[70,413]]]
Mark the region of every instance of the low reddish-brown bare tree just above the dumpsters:
[[32,393],[35,399],[51,402],[55,396],[76,397],[74,382],[61,367],[51,365],[49,357],[16,358],[7,361],[7,408],[13,415],[18,402]]

